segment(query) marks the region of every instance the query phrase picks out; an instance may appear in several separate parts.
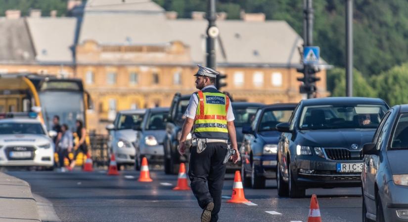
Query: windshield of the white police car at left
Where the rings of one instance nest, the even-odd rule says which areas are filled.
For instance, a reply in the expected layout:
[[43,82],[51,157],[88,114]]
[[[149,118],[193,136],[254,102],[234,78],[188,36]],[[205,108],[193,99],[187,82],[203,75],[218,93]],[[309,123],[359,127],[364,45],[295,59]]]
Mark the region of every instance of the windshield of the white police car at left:
[[0,123],[0,134],[41,134],[45,135],[40,123]]

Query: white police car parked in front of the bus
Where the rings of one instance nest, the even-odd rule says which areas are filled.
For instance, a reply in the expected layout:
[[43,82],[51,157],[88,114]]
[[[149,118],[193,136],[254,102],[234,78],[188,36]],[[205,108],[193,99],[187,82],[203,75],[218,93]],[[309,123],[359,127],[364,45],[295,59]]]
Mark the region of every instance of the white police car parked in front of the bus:
[[0,166],[52,169],[53,155],[54,144],[36,114],[25,117],[0,114]]

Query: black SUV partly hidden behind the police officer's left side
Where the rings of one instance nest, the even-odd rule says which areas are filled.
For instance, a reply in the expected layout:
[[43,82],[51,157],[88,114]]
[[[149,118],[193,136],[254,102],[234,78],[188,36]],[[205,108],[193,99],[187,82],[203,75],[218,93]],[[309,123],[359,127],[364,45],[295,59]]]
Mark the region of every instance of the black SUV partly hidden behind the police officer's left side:
[[166,174],[178,174],[180,163],[188,162],[189,147],[191,145],[191,134],[187,136],[185,145],[186,153],[180,155],[178,151],[179,140],[181,137],[181,127],[184,122],[183,114],[187,109],[191,95],[181,95],[176,93],[171,104],[169,116],[167,118],[166,133],[164,138],[164,171]]

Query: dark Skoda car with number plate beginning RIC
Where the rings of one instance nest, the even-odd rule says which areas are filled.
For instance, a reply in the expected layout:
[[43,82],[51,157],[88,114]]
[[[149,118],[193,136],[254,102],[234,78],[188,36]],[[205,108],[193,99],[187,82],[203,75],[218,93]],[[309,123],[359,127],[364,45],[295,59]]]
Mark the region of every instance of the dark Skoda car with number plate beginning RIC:
[[384,113],[381,99],[331,97],[303,100],[283,132],[277,153],[279,196],[300,198],[307,188],[361,186],[362,148]]

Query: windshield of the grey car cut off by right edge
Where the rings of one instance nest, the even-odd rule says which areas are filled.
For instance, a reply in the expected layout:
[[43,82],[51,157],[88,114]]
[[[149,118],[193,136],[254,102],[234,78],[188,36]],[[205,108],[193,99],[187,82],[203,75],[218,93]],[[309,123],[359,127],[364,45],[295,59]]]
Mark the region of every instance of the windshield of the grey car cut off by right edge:
[[408,113],[401,114],[391,142],[391,149],[408,149]]

